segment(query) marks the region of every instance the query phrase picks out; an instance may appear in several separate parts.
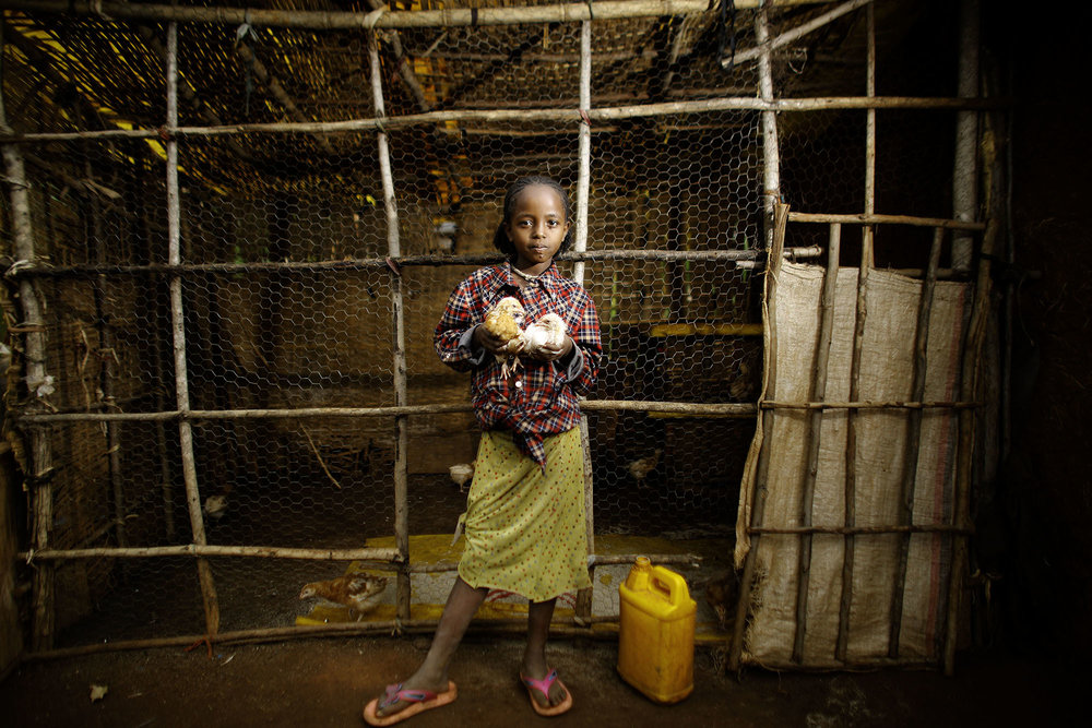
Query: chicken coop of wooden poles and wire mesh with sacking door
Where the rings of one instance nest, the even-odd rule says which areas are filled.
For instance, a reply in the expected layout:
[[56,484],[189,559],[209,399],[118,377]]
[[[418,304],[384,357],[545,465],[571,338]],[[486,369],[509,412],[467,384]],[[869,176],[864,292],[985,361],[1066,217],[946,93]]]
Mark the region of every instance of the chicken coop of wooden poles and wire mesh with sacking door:
[[[29,653],[435,626],[477,429],[432,333],[535,174],[604,343],[555,631],[646,554],[736,665],[950,667],[1004,184],[960,3],[0,9]],[[298,598],[358,571],[367,619]]]

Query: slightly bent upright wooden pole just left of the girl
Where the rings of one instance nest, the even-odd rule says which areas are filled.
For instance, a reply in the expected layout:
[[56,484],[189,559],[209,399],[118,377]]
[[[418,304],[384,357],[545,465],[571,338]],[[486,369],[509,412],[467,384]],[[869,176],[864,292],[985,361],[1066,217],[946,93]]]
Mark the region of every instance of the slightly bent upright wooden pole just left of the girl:
[[[368,32],[368,61],[371,75],[371,96],[376,118],[380,120],[376,140],[379,154],[379,172],[383,178],[383,207],[387,211],[387,254],[397,259],[402,254],[399,240],[399,210],[394,200],[394,179],[391,176],[391,152],[382,120],[387,118],[383,104],[383,76],[379,64],[379,41],[375,31]],[[394,349],[394,405],[407,402],[405,350],[405,285],[396,264],[391,265],[394,276],[391,286],[391,322]],[[406,451],[410,444],[410,422],[405,415],[394,418],[394,546],[402,563],[397,575],[397,618],[410,619],[410,496]]]

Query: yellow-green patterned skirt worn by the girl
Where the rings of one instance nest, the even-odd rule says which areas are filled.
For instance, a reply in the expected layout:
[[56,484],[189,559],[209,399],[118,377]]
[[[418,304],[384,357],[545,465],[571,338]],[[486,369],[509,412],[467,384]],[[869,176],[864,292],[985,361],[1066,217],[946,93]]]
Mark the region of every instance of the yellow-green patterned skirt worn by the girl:
[[473,587],[546,601],[592,585],[580,428],[546,438],[546,473],[511,432],[482,433],[459,575]]

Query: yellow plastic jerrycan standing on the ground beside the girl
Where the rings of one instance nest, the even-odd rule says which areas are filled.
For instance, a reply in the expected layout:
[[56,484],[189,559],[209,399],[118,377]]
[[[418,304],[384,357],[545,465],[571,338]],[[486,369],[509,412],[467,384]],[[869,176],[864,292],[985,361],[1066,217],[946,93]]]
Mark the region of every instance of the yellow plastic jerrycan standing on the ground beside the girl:
[[686,580],[638,557],[618,596],[618,673],[653,701],[677,703],[693,690],[698,605]]

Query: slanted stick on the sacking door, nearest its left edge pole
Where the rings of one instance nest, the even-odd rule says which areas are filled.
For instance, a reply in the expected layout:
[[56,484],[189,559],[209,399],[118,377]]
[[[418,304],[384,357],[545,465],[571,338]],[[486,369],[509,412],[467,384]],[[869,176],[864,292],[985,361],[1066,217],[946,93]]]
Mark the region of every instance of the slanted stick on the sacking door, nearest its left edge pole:
[[[834,295],[838,286],[839,254],[841,252],[842,226],[830,226],[830,242],[827,248],[827,271],[823,274],[822,300],[819,313],[819,336],[816,343],[815,377],[811,380],[810,399],[822,402],[827,397],[827,369],[830,361],[830,343],[834,333]],[[816,478],[819,474],[819,452],[822,445],[822,410],[811,413],[808,420],[808,464],[804,474],[800,493],[799,524],[811,527],[811,511],[815,503]],[[804,661],[804,637],[807,633],[808,586],[811,583],[811,534],[800,536],[796,573],[796,635],[793,641],[793,661]]]

